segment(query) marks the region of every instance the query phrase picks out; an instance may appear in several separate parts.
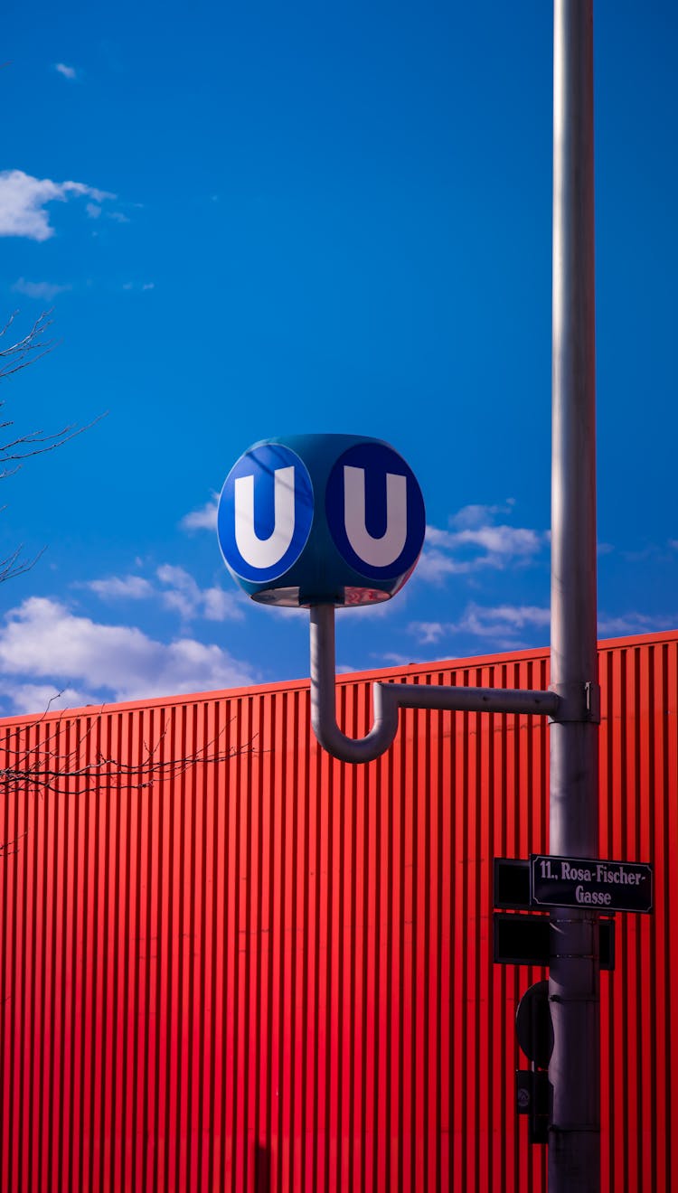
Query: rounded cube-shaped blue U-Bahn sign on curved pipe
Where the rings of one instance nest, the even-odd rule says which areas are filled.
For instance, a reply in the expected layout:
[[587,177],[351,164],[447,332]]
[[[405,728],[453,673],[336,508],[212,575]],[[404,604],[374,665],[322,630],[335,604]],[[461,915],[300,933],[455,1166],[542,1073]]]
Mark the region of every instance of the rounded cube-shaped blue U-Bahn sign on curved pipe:
[[226,565],[269,605],[370,605],[411,575],[424,545],[412,469],[381,439],[289,435],[254,444],[217,513]]

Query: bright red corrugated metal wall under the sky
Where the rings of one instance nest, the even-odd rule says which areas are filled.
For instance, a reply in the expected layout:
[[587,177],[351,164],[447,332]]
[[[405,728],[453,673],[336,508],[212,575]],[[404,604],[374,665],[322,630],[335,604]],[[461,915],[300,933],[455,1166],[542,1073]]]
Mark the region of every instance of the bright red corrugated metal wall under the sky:
[[[402,674],[542,687],[548,655]],[[602,854],[657,866],[602,976],[604,1187],[678,1189],[678,633],[600,680]],[[4,1191],[546,1189],[513,1109],[542,971],[492,964],[492,859],[548,848],[548,727],[406,712],[351,767],[308,703],[0,723]]]

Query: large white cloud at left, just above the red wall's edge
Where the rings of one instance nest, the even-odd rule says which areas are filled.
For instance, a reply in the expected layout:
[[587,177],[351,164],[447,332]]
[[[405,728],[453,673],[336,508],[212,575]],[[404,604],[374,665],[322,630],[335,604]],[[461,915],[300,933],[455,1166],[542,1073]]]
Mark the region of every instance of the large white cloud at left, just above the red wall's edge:
[[[81,687],[99,700],[240,687],[258,675],[217,645],[192,638],[159,642],[141,630],[104,625],[72,613],[58,601],[31,596],[0,628],[0,672],[19,676],[14,699],[21,711],[32,693],[39,711],[54,690]],[[39,682],[47,681],[47,682]]]

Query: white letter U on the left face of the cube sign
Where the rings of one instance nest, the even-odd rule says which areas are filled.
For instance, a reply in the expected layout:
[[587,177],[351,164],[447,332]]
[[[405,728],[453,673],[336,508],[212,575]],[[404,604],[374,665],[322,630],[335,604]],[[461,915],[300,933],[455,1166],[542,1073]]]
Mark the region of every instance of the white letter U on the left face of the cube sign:
[[239,476],[234,486],[235,545],[252,568],[272,568],[283,558],[295,532],[295,470],[273,470],[273,530],[259,538],[254,530],[254,477]]

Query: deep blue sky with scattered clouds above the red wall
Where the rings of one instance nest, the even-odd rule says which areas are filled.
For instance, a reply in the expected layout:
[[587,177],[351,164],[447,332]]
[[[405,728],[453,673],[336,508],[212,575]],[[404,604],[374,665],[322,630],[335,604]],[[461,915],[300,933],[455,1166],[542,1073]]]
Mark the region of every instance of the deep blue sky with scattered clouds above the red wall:
[[[678,625],[677,17],[598,0],[602,637]],[[253,441],[376,435],[429,534],[339,617],[343,669],[548,643],[550,6],[38,2],[4,17],[0,314],[54,308],[4,480],[0,711],[308,674],[233,586],[214,494]],[[10,335],[10,333],[7,333]]]

